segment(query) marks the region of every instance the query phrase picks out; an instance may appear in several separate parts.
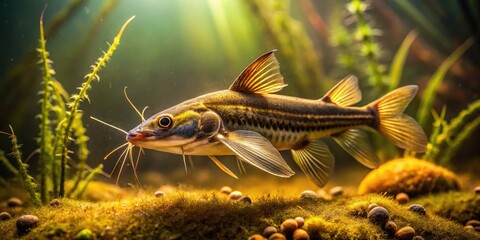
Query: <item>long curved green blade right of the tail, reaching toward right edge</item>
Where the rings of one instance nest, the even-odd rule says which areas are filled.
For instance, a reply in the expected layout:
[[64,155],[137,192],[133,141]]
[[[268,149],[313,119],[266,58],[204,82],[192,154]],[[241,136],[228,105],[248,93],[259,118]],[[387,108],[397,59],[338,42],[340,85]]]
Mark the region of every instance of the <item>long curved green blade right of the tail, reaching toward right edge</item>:
[[435,99],[435,91],[437,90],[438,86],[442,82],[443,78],[447,74],[448,70],[452,67],[452,65],[460,59],[463,53],[472,46],[475,42],[474,38],[467,39],[462,45],[460,45],[455,51],[450,54],[438,67],[435,73],[432,75],[430,80],[428,81],[427,88],[423,93],[422,101],[420,102],[420,107],[418,108],[417,112],[417,121],[422,127],[426,127],[428,114],[432,109],[432,104]]

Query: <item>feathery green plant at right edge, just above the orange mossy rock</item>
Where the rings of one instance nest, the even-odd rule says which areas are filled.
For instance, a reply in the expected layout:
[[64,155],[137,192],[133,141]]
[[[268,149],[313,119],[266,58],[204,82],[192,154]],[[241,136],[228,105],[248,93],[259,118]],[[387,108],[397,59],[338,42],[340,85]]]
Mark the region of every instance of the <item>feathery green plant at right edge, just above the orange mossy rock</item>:
[[440,165],[450,162],[474,130],[480,125],[480,100],[471,103],[467,109],[453,118],[450,123],[445,120],[445,108],[440,116],[434,114],[433,131],[430,144],[423,159]]

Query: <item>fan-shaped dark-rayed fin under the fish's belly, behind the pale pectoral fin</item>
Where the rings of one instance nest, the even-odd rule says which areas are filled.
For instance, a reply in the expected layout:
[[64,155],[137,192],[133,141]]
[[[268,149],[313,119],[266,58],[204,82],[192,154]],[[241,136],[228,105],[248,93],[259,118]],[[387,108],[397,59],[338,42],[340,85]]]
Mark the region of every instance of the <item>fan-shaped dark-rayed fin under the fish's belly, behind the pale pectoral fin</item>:
[[301,149],[292,150],[292,156],[311,181],[319,187],[325,186],[332,175],[335,158],[324,142],[311,142]]

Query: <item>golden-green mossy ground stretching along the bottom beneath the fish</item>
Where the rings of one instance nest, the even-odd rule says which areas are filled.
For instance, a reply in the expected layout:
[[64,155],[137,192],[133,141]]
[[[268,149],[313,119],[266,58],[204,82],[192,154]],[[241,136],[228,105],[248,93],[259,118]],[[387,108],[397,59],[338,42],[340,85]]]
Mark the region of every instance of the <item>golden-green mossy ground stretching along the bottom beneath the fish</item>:
[[[247,239],[269,225],[278,227],[287,218],[301,216],[312,239],[393,239],[367,220],[368,205],[377,203],[388,210],[399,227],[411,226],[425,239],[480,238],[460,223],[437,216],[429,207],[427,215],[420,216],[378,194],[328,201],[305,201],[280,194],[251,197],[253,204],[246,204],[228,200],[217,191],[181,190],[162,197],[152,193],[108,202],[62,199],[57,207],[30,207],[15,213],[11,220],[0,222],[0,236],[75,239],[80,232],[90,230],[92,239]],[[15,227],[21,214],[40,219],[38,227],[24,236],[19,236]]]

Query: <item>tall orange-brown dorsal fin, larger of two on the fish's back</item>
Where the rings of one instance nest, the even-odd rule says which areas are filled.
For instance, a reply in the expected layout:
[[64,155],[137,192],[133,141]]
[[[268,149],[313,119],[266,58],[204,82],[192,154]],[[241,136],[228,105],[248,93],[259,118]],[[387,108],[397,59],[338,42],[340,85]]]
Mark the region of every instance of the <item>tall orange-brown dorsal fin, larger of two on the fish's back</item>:
[[280,73],[280,65],[275,58],[274,51],[267,52],[250,63],[229,89],[238,92],[268,94],[278,92],[287,86]]

